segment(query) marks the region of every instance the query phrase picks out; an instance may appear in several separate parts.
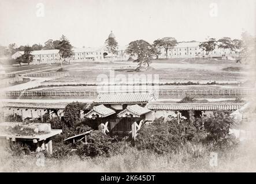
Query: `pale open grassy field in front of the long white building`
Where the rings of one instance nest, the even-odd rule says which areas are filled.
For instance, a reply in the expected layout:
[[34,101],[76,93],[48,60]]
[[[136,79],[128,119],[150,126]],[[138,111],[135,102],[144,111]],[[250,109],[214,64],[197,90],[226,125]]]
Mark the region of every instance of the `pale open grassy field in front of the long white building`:
[[[70,76],[55,79],[51,82],[87,82],[97,81],[99,74],[110,75],[109,70],[116,67],[131,66],[135,67],[137,63],[98,63],[98,64],[77,64],[67,68]],[[227,70],[232,66],[239,67],[240,70]],[[130,74],[157,74],[160,82],[170,81],[245,81],[247,77],[247,68],[243,64],[237,64],[230,60],[190,60],[190,59],[170,59],[153,60],[150,68],[144,72],[115,71],[114,74],[123,74],[128,77]]]

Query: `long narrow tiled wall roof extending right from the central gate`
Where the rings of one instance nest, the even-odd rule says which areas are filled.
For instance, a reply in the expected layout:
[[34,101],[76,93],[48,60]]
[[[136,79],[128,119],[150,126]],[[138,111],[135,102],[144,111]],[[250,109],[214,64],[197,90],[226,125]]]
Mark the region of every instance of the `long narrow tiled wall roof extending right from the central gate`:
[[229,103],[229,104],[157,104],[151,103],[146,107],[151,110],[237,110],[240,109],[243,103]]

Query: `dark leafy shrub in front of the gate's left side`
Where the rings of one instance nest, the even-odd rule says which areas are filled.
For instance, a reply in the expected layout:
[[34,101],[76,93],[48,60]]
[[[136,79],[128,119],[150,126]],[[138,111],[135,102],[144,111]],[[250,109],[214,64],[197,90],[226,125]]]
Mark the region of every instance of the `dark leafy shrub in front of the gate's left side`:
[[120,152],[120,144],[116,137],[110,137],[100,131],[94,131],[87,138],[87,144],[81,144],[77,148],[80,156],[105,156],[109,157]]

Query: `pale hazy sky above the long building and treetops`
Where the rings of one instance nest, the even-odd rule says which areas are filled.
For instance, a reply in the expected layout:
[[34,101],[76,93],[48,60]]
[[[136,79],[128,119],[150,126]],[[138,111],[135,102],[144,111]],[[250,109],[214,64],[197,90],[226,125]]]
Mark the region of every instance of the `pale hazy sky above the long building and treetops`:
[[119,45],[169,36],[233,39],[243,30],[255,35],[255,17],[255,0],[0,0],[0,45],[43,44],[64,34],[75,47],[97,47],[111,30]]

